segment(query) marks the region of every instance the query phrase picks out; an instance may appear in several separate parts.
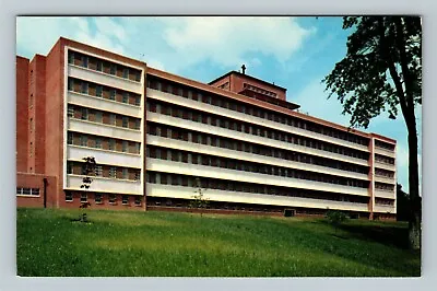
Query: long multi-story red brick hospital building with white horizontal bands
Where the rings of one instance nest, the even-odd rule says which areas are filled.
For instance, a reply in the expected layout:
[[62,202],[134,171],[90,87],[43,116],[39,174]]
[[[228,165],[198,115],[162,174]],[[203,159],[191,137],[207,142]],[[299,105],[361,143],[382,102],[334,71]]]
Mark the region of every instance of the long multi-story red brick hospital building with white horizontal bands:
[[205,84],[61,37],[16,57],[17,205],[187,210],[201,184],[210,211],[394,218],[395,140],[298,107],[244,70]]

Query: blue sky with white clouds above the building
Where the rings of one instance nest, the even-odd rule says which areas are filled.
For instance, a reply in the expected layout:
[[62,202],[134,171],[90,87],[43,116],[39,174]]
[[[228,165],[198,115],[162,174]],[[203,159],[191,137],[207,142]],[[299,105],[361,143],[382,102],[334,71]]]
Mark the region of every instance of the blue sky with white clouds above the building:
[[[350,34],[342,30],[342,18],[21,16],[16,19],[16,54],[29,59],[47,55],[63,36],[204,83],[245,63],[247,74],[286,88],[287,101],[299,104],[302,112],[349,126],[350,116],[342,115],[334,96],[328,100],[321,80],[344,58]],[[422,168],[421,108],[416,116]],[[393,120],[382,113],[362,130],[398,141],[398,183],[408,191],[403,117]]]

